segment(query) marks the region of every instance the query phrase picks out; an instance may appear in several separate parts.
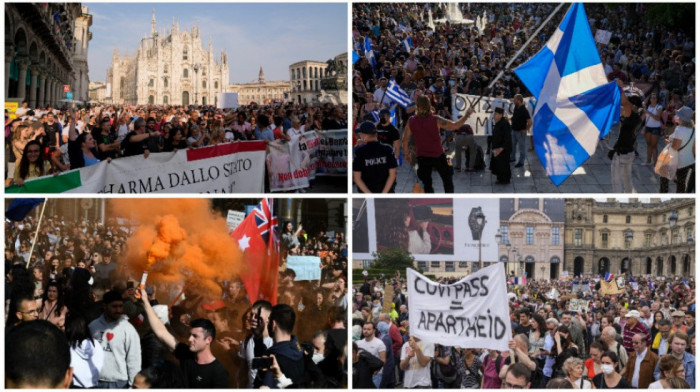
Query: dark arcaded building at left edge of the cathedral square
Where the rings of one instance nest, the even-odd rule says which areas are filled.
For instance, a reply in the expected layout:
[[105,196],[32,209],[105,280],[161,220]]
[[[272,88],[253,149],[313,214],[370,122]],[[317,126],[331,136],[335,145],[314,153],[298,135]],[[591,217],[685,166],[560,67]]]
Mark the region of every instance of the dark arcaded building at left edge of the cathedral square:
[[88,96],[92,16],[80,3],[5,4],[5,100],[57,105]]

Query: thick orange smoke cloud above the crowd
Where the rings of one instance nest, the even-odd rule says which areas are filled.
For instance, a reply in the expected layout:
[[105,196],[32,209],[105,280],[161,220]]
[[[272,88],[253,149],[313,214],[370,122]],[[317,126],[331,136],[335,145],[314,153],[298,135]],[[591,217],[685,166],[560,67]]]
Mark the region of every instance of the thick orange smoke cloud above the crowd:
[[221,298],[219,283],[243,268],[226,220],[205,199],[111,199],[109,215],[128,219],[134,231],[120,256],[132,277],[148,271],[148,284],[193,284]]

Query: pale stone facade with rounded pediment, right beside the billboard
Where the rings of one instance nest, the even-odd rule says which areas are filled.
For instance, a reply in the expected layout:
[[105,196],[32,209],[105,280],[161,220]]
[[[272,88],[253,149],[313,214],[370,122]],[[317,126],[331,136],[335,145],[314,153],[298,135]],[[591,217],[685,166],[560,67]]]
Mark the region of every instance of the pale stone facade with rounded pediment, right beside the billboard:
[[564,199],[501,199],[499,261],[509,275],[557,279],[564,258]]

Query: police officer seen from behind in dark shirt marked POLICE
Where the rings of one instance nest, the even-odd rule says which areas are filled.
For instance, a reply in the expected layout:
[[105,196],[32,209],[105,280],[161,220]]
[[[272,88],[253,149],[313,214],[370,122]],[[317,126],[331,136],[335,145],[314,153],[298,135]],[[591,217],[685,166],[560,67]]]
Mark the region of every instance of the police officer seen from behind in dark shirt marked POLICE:
[[353,181],[362,193],[393,193],[396,157],[391,147],[377,139],[377,127],[370,121],[360,124],[357,133],[365,142],[355,149]]

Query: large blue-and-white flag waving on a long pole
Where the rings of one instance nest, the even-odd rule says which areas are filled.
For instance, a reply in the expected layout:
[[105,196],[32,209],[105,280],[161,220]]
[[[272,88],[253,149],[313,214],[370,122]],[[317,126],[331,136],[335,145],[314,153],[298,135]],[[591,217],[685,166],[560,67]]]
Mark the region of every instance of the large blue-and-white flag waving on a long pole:
[[620,119],[620,89],[608,83],[583,4],[571,5],[547,44],[515,73],[537,99],[535,149],[559,186]]

